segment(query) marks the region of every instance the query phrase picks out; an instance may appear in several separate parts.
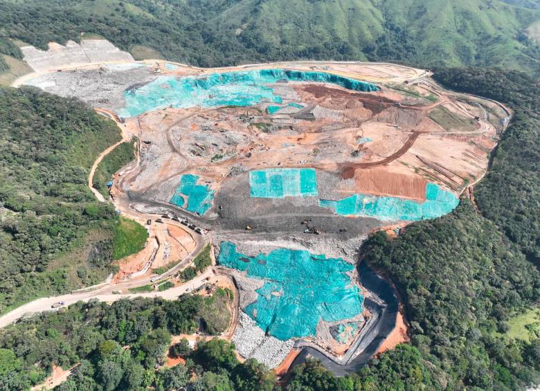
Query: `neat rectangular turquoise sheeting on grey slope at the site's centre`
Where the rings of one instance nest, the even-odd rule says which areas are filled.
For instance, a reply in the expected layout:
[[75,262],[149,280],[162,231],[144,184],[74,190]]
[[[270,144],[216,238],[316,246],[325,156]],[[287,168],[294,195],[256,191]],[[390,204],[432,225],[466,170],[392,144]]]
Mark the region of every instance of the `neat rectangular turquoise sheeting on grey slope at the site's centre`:
[[269,168],[249,172],[251,197],[316,197],[317,177],[313,168]]

